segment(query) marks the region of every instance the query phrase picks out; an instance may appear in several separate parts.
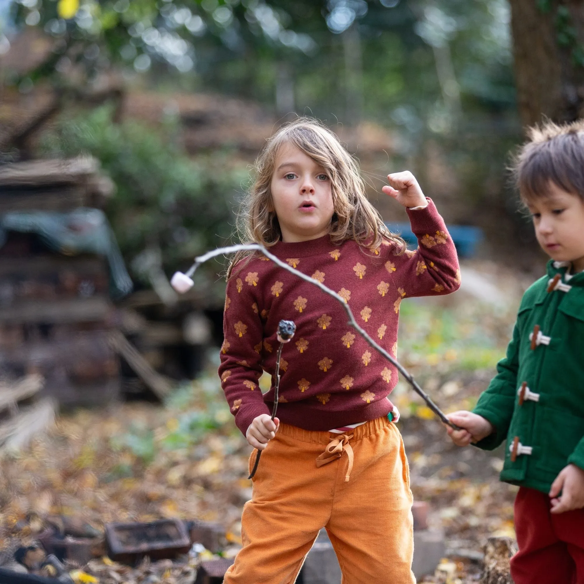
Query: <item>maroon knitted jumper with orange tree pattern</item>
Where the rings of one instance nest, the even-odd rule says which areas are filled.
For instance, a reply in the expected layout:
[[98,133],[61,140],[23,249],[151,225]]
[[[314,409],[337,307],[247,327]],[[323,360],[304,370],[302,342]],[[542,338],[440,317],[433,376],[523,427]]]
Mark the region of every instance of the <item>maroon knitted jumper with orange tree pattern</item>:
[[[449,294],[460,286],[456,249],[428,201],[424,209],[408,209],[415,252],[395,255],[389,241],[374,250],[353,240],[335,246],[328,235],[278,242],[270,251],[345,298],[360,325],[395,356],[403,298]],[[281,422],[326,431],[392,411],[387,396],[398,380],[395,367],[347,324],[338,301],[262,256],[234,267],[225,298],[219,374],[242,433],[272,411],[281,319],[296,322],[281,354]],[[262,370],[272,375],[265,395],[258,387]]]

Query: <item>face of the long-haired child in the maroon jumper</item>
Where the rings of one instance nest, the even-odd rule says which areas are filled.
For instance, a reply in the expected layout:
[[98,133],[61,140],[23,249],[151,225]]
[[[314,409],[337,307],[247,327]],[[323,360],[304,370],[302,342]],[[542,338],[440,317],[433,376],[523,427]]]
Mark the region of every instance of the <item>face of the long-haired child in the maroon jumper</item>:
[[274,167],[270,189],[282,240],[293,243],[326,235],[335,209],[325,169],[292,144],[280,148]]

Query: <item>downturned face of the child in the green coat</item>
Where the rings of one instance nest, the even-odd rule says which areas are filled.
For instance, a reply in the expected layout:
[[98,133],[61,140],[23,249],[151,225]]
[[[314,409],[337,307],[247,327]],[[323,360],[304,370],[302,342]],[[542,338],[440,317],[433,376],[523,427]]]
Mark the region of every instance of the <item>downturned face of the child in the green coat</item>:
[[550,258],[584,270],[584,201],[550,182],[548,195],[527,203],[537,241]]

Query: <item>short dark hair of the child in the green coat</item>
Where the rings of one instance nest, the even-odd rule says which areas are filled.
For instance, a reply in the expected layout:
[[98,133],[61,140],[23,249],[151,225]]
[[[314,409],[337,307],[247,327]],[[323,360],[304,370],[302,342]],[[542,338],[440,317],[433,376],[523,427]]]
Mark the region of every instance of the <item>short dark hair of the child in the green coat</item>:
[[529,128],[512,166],[524,203],[549,193],[549,183],[584,200],[584,120]]

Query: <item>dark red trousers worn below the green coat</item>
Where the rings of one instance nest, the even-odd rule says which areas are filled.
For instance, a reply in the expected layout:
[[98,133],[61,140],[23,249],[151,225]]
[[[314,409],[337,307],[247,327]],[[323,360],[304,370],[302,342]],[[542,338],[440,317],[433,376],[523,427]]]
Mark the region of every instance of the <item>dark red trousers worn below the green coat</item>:
[[584,584],[584,509],[554,515],[546,493],[522,486],[515,499],[515,531],[515,584]]

